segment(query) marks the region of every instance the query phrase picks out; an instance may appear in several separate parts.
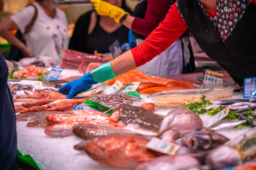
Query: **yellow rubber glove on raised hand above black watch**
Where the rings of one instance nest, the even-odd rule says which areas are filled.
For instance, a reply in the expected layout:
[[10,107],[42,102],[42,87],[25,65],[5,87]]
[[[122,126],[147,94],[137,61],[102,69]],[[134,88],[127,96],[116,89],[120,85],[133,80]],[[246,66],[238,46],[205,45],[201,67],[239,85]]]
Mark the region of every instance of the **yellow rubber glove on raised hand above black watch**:
[[111,5],[108,2],[101,0],[91,0],[93,6],[99,15],[109,16],[114,18],[116,23],[120,23],[121,18],[124,14],[130,15],[128,12],[124,11],[122,8]]

